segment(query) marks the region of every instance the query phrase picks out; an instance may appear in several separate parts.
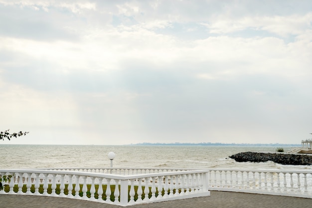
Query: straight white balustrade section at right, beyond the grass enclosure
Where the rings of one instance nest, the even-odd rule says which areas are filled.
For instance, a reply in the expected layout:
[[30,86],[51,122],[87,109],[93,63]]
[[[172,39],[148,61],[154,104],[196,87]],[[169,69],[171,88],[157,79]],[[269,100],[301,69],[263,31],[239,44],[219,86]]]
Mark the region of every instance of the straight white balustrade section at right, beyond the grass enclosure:
[[312,199],[312,171],[210,169],[208,184],[211,191]]

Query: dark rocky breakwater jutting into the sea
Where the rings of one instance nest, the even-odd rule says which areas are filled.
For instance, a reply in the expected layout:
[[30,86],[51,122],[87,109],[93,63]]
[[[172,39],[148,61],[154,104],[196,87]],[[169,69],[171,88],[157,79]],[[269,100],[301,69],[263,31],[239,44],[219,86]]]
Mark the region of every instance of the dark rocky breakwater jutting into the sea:
[[243,152],[230,156],[236,162],[273,161],[282,165],[312,165],[312,156],[281,153]]

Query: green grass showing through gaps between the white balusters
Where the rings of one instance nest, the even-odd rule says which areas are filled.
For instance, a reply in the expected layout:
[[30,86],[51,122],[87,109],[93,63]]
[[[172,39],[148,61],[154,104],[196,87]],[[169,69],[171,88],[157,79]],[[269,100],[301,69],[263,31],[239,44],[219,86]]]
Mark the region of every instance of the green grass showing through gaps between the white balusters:
[[[68,187],[68,184],[65,184],[65,189],[64,189],[64,194],[65,194],[65,195],[68,195],[68,189],[67,189],[67,187]],[[82,187],[83,187],[83,185],[80,185],[80,190],[79,190],[79,193],[78,193],[80,197],[83,196]],[[111,200],[112,202],[114,202],[114,201],[115,201],[115,196],[114,196],[115,185],[111,185],[110,187],[111,187],[111,196],[110,196],[110,200]],[[91,197],[91,193],[90,193],[91,185],[87,185],[87,188],[88,188],[87,197],[90,198],[90,197]],[[107,200],[107,196],[106,196],[106,194],[105,194],[105,193],[106,193],[106,189],[107,189],[107,185],[102,185],[102,188],[103,188],[102,199],[103,199],[103,200]],[[128,193],[130,193],[130,188],[131,188],[131,187],[128,186]],[[95,185],[95,190],[96,190],[96,191],[95,191],[95,194],[94,194],[94,198],[95,198],[95,199],[99,199],[99,194],[98,194],[98,192],[97,192],[98,189],[99,189],[99,185]],[[120,186],[119,186],[119,189],[120,189]],[[134,196],[134,200],[137,201],[137,200],[138,200],[138,194],[137,194],[138,186],[134,186],[134,189],[135,189],[135,193],[136,193],[135,196]],[[144,194],[145,187],[142,187],[142,189],[143,189],[142,199],[145,199],[145,194]],[[6,186],[4,187],[4,191],[5,191],[6,193],[9,192],[9,186],[6,185]],[[13,191],[14,191],[15,193],[18,192],[18,185],[14,185]],[[26,191],[27,191],[27,187],[26,187],[26,185],[23,185],[23,187],[22,187],[22,192],[23,192],[23,193],[26,193]],[[40,194],[43,194],[43,191],[44,191],[43,185],[41,184],[41,185],[39,186],[38,192],[39,192]],[[34,185],[32,185],[32,186],[30,187],[30,192],[31,192],[31,193],[34,193],[34,192],[35,192]],[[61,190],[60,190],[60,185],[57,184],[57,185],[56,185],[56,189],[55,189],[55,193],[56,193],[57,195],[59,195],[60,192],[61,192]],[[168,194],[169,194],[169,192],[170,192],[170,190],[168,190]],[[179,193],[180,193],[180,192],[181,192],[181,190],[179,190]],[[48,193],[48,194],[51,194],[51,193],[52,193],[51,184],[48,185],[47,193]],[[174,193],[175,193],[175,189],[173,190],[173,194],[174,194]],[[72,195],[73,195],[73,196],[76,195],[75,184],[73,184]],[[155,194],[155,196],[157,197],[158,195],[159,195],[159,192],[158,192],[158,189],[156,188],[156,194]],[[163,190],[163,189],[162,189],[162,191],[161,191],[161,195],[162,195],[162,196],[164,195],[164,190]],[[149,198],[152,197],[151,187],[149,187],[149,196],[148,196],[148,197],[149,197]],[[119,197],[118,201],[120,201],[120,197]],[[128,195],[128,201],[130,201],[130,195]]]

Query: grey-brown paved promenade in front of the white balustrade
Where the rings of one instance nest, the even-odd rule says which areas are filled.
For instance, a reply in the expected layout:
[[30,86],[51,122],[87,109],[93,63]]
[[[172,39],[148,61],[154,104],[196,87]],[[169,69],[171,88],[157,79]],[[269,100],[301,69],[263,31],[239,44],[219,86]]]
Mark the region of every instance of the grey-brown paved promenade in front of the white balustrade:
[[[130,208],[311,208],[312,199],[212,191],[210,197],[175,200]],[[122,208],[57,197],[0,195],[0,208]]]

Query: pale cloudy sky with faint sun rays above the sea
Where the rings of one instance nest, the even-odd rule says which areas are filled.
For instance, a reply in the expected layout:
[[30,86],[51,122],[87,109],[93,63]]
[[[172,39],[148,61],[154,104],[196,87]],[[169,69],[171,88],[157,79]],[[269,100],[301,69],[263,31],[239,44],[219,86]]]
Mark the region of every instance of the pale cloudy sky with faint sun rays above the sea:
[[0,0],[0,144],[300,144],[311,0]]

